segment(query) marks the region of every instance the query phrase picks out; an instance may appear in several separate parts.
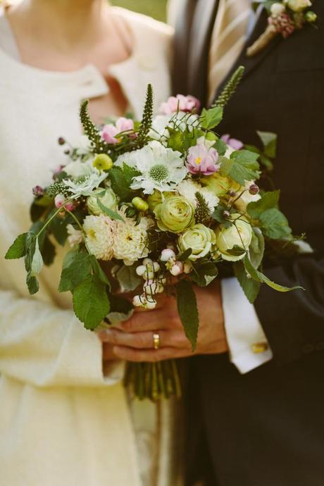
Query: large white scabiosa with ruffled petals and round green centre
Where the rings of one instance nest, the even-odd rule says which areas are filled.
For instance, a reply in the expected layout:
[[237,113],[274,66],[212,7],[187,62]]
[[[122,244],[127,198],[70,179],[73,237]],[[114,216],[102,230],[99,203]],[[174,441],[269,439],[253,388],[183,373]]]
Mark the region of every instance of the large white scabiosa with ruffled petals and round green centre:
[[127,166],[137,168],[141,175],[133,178],[130,187],[143,189],[144,194],[152,194],[154,189],[174,191],[187,175],[180,152],[166,149],[159,142],[150,142],[146,147],[125,155],[118,157],[115,165],[125,162]]

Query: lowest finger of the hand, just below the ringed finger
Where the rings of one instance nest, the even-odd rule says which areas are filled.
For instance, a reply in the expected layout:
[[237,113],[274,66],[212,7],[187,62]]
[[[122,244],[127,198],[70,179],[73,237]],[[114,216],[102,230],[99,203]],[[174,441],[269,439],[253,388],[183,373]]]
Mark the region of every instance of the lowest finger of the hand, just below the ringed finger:
[[190,356],[192,354],[191,351],[173,347],[139,350],[114,346],[113,352],[118,358],[125,359],[126,361],[133,361],[135,363],[155,363],[156,361],[164,361],[165,359],[184,358],[185,356]]

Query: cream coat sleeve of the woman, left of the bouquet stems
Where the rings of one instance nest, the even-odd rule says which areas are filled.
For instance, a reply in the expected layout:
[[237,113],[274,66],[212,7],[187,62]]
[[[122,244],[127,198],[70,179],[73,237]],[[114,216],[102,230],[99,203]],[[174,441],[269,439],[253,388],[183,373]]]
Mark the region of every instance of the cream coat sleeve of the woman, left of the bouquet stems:
[[123,363],[102,371],[102,345],[73,311],[0,290],[0,373],[37,387],[114,385]]

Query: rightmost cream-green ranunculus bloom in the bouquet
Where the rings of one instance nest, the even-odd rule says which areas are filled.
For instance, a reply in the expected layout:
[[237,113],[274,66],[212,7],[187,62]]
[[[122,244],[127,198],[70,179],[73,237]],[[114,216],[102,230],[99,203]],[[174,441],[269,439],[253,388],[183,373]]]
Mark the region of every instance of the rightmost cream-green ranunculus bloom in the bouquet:
[[245,254],[230,255],[228,250],[235,247],[235,245],[247,250],[251,244],[252,228],[248,220],[238,213],[232,214],[231,220],[235,220],[235,224],[230,225],[230,228],[223,228],[222,226],[216,228],[216,245],[214,251],[220,254],[223,260],[238,261],[242,260]]

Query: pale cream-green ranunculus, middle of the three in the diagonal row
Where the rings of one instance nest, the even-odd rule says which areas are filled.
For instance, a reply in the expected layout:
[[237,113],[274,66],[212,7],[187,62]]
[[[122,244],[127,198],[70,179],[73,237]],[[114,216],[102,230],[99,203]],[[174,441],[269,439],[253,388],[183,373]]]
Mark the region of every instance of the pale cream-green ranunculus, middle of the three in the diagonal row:
[[192,254],[189,260],[195,261],[206,256],[215,243],[216,235],[213,230],[199,223],[180,235],[177,247],[182,253],[191,248]]

